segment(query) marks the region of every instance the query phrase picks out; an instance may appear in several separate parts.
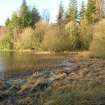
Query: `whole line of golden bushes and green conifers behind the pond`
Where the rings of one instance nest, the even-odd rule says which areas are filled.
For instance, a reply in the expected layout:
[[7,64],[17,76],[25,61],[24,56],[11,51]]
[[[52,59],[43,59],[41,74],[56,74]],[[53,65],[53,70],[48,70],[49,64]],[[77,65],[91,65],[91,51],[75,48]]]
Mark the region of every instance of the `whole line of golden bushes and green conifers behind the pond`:
[[101,54],[105,52],[102,0],[82,2],[80,10],[77,0],[69,1],[67,11],[60,3],[57,22],[49,23],[41,18],[36,8],[31,10],[23,0],[20,10],[6,21],[8,32],[0,42],[0,48],[55,52],[90,50],[93,55],[97,53],[96,57],[105,55]]

